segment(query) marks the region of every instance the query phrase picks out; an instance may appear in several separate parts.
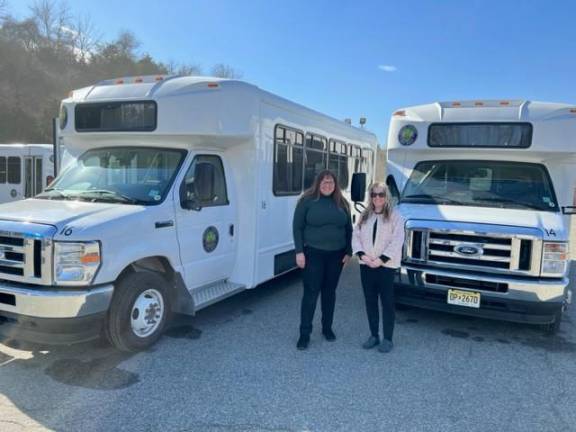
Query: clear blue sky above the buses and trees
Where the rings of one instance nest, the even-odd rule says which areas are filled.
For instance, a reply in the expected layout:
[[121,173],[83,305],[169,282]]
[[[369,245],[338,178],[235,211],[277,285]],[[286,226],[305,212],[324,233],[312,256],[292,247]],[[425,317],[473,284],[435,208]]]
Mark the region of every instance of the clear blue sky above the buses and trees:
[[[30,1],[8,0],[17,17]],[[141,52],[243,79],[367,128],[437,100],[576,104],[576,2],[72,0],[103,39],[130,30]]]

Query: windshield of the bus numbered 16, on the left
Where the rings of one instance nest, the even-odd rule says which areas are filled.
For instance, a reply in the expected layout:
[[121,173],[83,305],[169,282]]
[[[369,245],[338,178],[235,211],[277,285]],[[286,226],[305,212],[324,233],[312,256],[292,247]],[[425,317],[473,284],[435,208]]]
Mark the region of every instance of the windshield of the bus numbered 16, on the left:
[[36,198],[159,204],[185,154],[150,147],[89,150]]

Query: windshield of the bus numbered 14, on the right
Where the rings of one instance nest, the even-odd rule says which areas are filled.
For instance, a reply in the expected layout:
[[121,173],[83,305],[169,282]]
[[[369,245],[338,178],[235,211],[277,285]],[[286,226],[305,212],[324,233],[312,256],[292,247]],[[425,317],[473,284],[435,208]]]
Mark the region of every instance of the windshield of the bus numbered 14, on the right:
[[518,162],[420,162],[400,202],[558,211],[544,166]]

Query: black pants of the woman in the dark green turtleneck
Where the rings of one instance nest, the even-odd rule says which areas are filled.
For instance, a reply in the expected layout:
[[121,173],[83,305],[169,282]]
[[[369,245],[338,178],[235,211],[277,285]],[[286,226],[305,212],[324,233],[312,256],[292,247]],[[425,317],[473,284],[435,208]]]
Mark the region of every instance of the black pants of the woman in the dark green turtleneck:
[[342,272],[345,251],[323,251],[314,248],[304,250],[306,266],[303,271],[304,294],[300,309],[300,334],[312,332],[312,320],[322,294],[322,329],[331,329],[336,304],[336,286]]

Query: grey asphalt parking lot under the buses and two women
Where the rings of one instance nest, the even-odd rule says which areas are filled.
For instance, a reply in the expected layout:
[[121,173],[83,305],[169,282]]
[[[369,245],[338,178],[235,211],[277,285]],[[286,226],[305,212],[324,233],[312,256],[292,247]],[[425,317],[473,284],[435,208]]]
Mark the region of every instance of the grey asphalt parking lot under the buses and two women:
[[[575,267],[575,266],[573,266]],[[573,268],[574,270],[574,268]],[[576,311],[557,336],[399,311],[389,354],[368,336],[358,265],[335,342],[297,351],[300,275],[178,317],[150,351],[0,344],[0,431],[576,430]],[[317,317],[319,318],[319,317]]]

